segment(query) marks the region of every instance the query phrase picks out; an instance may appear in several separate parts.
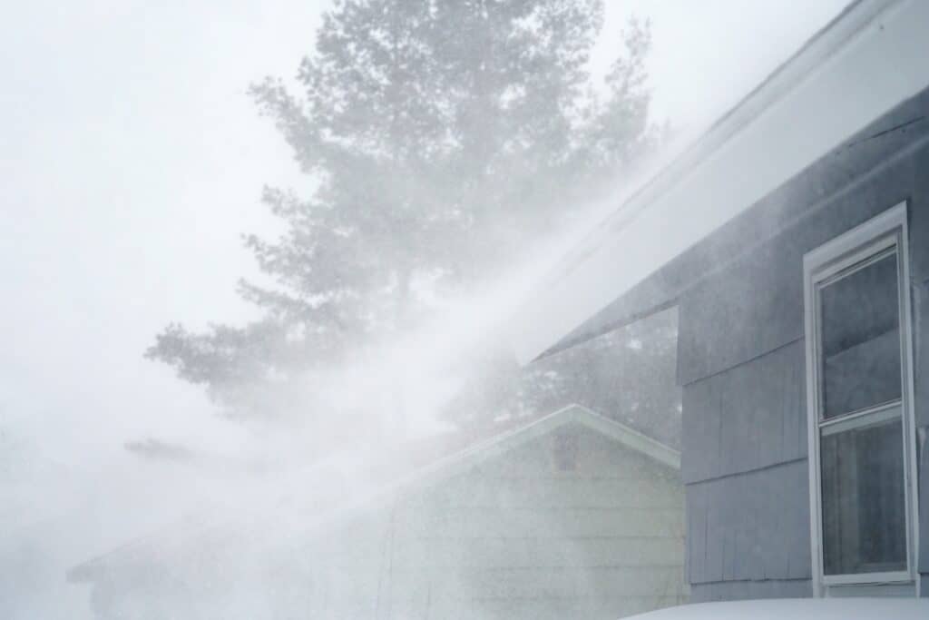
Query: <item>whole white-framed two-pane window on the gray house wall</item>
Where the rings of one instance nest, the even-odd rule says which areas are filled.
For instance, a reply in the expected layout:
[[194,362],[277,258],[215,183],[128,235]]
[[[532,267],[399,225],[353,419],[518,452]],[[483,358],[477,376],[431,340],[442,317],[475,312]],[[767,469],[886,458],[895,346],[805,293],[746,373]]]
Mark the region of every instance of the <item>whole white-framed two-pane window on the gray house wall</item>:
[[914,579],[906,204],[805,256],[818,593]]

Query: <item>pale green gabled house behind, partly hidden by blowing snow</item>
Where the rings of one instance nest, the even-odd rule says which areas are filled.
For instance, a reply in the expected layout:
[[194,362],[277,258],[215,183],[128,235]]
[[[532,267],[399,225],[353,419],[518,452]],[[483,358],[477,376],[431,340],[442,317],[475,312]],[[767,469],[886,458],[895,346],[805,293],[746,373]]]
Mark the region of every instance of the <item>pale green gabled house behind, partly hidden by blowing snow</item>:
[[617,618],[687,600],[679,467],[572,405],[294,530],[169,528],[69,577],[105,618]]

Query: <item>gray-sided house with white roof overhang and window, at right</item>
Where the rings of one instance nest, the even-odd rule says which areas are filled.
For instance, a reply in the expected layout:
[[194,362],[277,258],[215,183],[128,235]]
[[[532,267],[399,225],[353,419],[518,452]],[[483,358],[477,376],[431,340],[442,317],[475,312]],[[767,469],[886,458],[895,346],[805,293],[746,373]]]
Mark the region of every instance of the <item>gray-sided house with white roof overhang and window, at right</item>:
[[678,312],[692,600],[929,596],[929,3],[852,3],[563,257],[522,363]]

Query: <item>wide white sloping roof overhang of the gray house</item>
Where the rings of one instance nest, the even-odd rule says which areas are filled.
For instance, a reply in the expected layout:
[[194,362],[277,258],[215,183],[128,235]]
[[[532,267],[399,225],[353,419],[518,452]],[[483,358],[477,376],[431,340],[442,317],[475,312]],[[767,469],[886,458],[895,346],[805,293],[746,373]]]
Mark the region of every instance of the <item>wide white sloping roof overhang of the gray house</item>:
[[929,85],[929,2],[862,0],[592,231],[509,325],[529,363]]

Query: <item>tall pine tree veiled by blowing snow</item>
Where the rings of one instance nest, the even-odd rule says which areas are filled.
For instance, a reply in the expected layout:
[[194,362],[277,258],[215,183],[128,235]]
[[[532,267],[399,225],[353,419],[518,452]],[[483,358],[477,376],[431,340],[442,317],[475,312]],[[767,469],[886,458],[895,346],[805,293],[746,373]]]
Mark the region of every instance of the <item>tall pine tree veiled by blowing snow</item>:
[[313,377],[421,319],[423,290],[499,269],[648,147],[648,24],[630,23],[598,87],[603,12],[602,0],[337,2],[298,90],[252,88],[318,183],[309,197],[263,192],[286,232],[245,237],[274,283],[240,284],[262,318],[171,324],[147,356],[231,417],[329,413],[307,406]]

